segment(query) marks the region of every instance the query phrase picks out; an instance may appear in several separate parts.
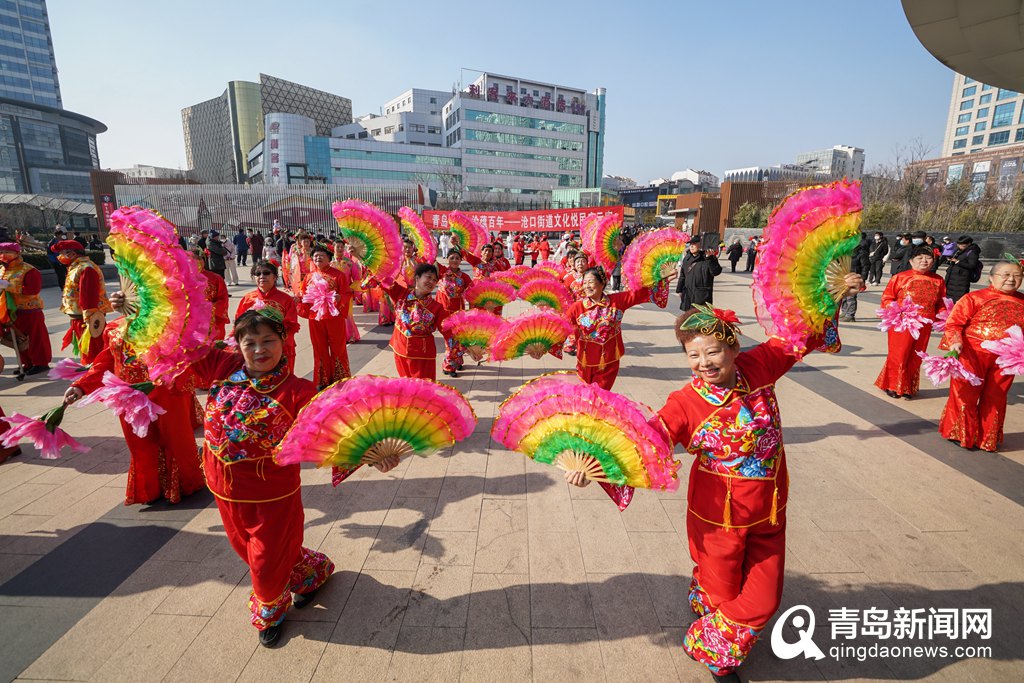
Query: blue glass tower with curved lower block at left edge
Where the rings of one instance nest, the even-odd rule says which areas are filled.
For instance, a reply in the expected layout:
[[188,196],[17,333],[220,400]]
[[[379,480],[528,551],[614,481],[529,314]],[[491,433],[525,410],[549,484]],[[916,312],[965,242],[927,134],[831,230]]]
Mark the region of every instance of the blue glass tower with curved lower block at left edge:
[[63,109],[45,0],[0,2],[0,193],[91,199],[105,130]]

